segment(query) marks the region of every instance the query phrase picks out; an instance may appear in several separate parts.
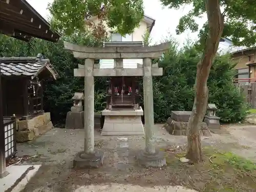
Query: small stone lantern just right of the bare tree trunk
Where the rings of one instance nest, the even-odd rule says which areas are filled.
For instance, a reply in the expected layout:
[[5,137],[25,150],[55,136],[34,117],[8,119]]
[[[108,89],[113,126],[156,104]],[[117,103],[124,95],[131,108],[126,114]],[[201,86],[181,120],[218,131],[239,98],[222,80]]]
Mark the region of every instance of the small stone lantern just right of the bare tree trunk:
[[207,124],[211,132],[217,133],[221,127],[220,117],[216,116],[216,111],[218,110],[215,104],[207,104],[206,115],[204,116],[204,122]]

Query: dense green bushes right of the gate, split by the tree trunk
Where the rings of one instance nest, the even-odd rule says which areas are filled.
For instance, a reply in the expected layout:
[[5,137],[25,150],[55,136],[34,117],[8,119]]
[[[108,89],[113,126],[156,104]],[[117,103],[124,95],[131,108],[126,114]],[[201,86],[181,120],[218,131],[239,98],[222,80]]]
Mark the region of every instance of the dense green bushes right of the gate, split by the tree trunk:
[[[166,53],[159,67],[163,76],[154,77],[155,122],[164,122],[171,111],[191,111],[194,103],[194,84],[201,52],[195,46],[178,51],[175,46]],[[247,104],[233,84],[236,71],[230,55],[217,55],[208,79],[209,103],[215,103],[224,123],[243,121]]]

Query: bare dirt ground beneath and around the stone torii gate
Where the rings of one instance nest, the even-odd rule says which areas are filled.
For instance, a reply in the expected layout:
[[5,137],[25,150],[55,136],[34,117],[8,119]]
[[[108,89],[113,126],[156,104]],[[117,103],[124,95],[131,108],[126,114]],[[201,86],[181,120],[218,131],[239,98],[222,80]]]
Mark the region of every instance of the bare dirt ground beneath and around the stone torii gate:
[[[169,135],[162,125],[155,127],[157,148],[160,150],[169,148],[172,149],[171,151],[182,151],[185,148],[186,137]],[[202,145],[231,151],[256,161],[256,126],[230,125],[225,126],[224,129],[229,134],[212,134],[211,137],[202,137]],[[26,164],[42,164],[24,192],[185,191],[182,187],[172,188],[170,186],[186,186],[187,177],[190,178],[186,174],[186,167],[179,169],[173,166],[148,169],[139,167],[134,157],[138,150],[144,148],[144,137],[122,137],[128,138],[126,144],[129,147],[126,148],[125,153],[123,147],[120,147],[123,144],[118,139],[120,136],[100,136],[100,133],[95,130],[95,147],[104,151],[104,164],[98,169],[84,170],[71,168],[75,154],[83,150],[83,130],[55,128],[30,143],[19,143],[17,145],[18,156],[36,155],[29,162],[25,162]],[[168,159],[166,161],[167,164],[171,163]],[[180,175],[183,175],[182,178]],[[193,182],[190,188],[204,191],[202,186],[205,184],[200,181]],[[134,188],[134,186],[137,187]],[[153,186],[156,190],[147,188]],[[161,190],[157,188],[158,186],[161,186]],[[103,189],[100,190],[100,187]]]

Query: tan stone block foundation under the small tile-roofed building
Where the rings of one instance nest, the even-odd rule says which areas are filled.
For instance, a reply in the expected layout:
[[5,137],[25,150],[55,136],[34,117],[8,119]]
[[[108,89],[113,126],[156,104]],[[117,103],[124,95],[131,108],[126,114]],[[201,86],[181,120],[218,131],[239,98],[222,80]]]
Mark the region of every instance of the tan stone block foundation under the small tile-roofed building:
[[32,141],[53,128],[50,113],[44,113],[29,120],[18,120],[17,142]]

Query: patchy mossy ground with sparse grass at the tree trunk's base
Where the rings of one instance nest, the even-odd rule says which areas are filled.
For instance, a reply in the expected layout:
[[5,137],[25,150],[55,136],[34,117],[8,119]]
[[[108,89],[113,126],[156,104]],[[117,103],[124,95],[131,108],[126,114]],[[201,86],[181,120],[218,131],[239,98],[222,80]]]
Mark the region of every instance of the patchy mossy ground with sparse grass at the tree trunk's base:
[[[231,152],[204,147],[204,162],[194,165],[182,163],[185,152],[166,152],[167,169],[173,175],[171,183],[182,183],[200,192],[256,191],[256,165]],[[177,181],[172,178],[176,178]]]

